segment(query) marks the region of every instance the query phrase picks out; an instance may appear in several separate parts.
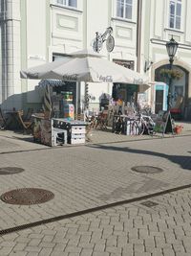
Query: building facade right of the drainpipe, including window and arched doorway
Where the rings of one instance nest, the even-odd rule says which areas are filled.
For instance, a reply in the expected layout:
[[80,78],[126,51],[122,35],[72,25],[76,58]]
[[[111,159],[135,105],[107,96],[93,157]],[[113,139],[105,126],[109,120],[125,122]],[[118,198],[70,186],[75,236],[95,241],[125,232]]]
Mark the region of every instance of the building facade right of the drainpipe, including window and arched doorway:
[[[190,10],[191,3],[187,0],[145,0],[142,5],[142,54],[147,63],[153,63],[146,71],[151,81],[169,82],[169,58],[165,44],[172,36],[179,43],[173,63],[172,106],[178,107],[180,103],[185,119],[191,119]],[[154,111],[159,108],[165,95],[164,86],[151,86],[150,105]]]

